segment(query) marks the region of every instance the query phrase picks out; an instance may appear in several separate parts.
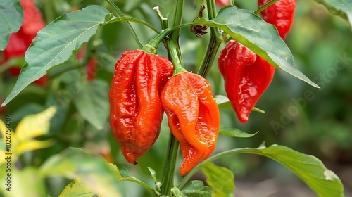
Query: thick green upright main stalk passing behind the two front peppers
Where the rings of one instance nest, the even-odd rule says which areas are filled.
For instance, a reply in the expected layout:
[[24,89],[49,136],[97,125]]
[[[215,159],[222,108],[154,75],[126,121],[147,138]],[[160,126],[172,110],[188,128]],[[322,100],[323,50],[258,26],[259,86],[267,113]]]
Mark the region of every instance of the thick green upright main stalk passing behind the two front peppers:
[[[176,0],[174,6],[174,13],[172,18],[172,27],[181,25],[183,16],[184,0]],[[175,30],[170,34],[168,42],[166,43],[166,49],[168,49],[169,58],[174,63],[175,68],[182,68],[182,56],[179,45],[180,29]],[[177,70],[177,69],[175,69]],[[174,72],[175,73],[175,72]],[[175,175],[175,165],[177,161],[177,153],[179,150],[179,142],[175,139],[175,136],[170,134],[170,142],[168,146],[168,155],[165,160],[163,177],[161,178],[161,194],[171,194],[171,189],[174,185],[173,179]]]

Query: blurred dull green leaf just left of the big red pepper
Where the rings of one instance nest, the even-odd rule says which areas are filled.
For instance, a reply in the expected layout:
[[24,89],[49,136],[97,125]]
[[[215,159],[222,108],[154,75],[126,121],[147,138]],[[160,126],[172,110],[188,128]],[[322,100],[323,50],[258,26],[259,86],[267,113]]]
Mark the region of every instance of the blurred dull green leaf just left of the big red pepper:
[[77,87],[73,103],[85,120],[96,129],[103,129],[109,115],[109,84],[103,80],[93,80],[82,87]]

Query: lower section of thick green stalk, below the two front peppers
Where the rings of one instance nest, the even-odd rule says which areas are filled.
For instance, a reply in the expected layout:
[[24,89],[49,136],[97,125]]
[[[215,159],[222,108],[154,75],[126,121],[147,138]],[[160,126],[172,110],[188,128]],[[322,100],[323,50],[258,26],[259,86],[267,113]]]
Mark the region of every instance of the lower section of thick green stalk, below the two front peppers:
[[179,149],[179,142],[170,133],[169,149],[166,156],[164,165],[163,177],[161,177],[161,194],[170,195],[171,188],[173,187],[173,179],[175,174],[175,166],[177,161],[177,153]]

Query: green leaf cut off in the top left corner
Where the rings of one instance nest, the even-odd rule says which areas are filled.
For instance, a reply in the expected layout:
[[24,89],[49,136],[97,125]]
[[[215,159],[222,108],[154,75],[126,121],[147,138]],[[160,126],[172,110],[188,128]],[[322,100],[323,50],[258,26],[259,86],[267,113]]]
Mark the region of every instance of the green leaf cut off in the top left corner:
[[20,30],[23,23],[23,8],[20,0],[1,0],[0,4],[0,50],[4,50],[10,35]]

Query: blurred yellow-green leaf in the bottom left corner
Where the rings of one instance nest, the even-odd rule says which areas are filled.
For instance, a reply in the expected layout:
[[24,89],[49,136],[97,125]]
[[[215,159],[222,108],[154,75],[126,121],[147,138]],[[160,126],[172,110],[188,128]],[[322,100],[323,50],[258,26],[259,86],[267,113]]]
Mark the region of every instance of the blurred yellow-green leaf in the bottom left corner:
[[[4,166],[1,168],[5,169]],[[5,172],[5,170],[4,170]],[[26,196],[26,197],[36,197],[36,196],[46,196],[44,179],[38,176],[38,170],[34,167],[25,167],[22,170],[17,170],[16,167],[11,167],[11,186],[6,185],[6,180],[8,172],[1,174],[1,193],[5,197],[13,196]],[[4,177],[5,176],[5,177]],[[8,187],[9,186],[9,187]],[[11,191],[6,191],[9,188]]]

